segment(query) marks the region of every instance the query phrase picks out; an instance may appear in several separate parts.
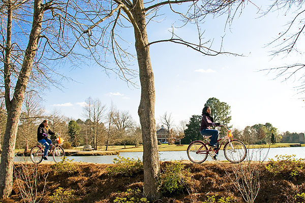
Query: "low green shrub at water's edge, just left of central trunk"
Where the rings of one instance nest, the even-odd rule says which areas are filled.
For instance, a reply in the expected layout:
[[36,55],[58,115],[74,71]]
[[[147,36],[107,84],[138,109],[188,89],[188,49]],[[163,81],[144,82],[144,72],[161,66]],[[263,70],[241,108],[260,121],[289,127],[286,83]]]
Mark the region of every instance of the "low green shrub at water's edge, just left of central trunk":
[[118,156],[118,158],[113,159],[113,163],[116,165],[106,167],[109,176],[128,177],[143,172],[143,162],[139,158],[136,160],[134,158],[130,159]]

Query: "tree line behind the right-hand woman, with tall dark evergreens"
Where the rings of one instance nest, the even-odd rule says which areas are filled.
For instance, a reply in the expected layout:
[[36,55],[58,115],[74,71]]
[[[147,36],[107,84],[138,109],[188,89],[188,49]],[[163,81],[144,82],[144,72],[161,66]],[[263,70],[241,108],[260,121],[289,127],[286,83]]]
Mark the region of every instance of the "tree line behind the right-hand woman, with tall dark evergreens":
[[[227,103],[212,97],[206,101],[205,106],[207,105],[211,107],[211,115],[215,118],[215,122],[232,127],[230,126],[230,106]],[[190,144],[195,140],[202,140],[199,131],[201,118],[201,115],[193,115],[190,118],[184,130],[185,136],[181,139],[181,144]],[[220,130],[220,134],[226,134],[224,128],[217,127],[217,129]],[[299,143],[298,133],[289,131],[280,133],[278,128],[272,126],[271,123],[259,123],[246,126],[244,129],[232,128],[232,134],[235,139],[241,140],[245,144]]]

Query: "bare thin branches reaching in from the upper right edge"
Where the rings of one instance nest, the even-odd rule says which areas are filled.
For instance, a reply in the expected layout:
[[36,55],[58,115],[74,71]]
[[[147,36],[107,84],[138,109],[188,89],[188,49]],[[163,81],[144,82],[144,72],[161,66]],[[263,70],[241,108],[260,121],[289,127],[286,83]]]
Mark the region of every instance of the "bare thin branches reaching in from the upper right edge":
[[[302,55],[304,53],[301,42],[304,40],[305,33],[305,8],[303,0],[275,0],[270,5],[264,15],[269,12],[282,12],[283,15],[292,15],[290,21],[286,22],[283,31],[275,33],[276,39],[269,43],[268,46],[273,46],[272,57],[281,56],[286,57],[288,55],[297,54]],[[296,89],[299,94],[305,92],[305,63],[296,62],[290,64],[284,64],[278,67],[272,67],[264,69],[268,73],[275,72],[276,79],[281,78],[283,81],[292,80],[293,82],[299,82],[296,85]]]

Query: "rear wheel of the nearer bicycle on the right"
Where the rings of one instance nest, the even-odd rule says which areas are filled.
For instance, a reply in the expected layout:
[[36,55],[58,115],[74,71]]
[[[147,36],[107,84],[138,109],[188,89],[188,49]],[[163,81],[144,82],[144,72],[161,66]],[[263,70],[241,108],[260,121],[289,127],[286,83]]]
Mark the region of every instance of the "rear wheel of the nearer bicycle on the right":
[[200,141],[191,143],[188,147],[188,157],[193,163],[202,163],[207,158],[207,147]]

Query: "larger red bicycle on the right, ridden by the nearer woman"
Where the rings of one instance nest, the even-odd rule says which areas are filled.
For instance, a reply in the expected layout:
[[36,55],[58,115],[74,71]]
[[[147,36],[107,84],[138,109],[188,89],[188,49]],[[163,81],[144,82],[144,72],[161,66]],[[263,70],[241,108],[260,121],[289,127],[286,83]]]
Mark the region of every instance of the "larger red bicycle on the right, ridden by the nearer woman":
[[239,163],[243,161],[247,156],[247,148],[245,144],[241,141],[233,139],[231,130],[228,126],[221,125],[227,129],[227,135],[217,141],[219,144],[218,149],[214,149],[209,147],[208,149],[208,140],[210,136],[203,136],[205,138],[206,143],[202,141],[194,141],[192,142],[187,149],[188,157],[193,163],[202,163],[206,160],[207,155],[209,154],[211,157],[214,157],[216,153],[221,149],[221,146],[224,145],[224,154],[228,161],[232,163]]

